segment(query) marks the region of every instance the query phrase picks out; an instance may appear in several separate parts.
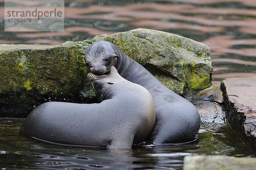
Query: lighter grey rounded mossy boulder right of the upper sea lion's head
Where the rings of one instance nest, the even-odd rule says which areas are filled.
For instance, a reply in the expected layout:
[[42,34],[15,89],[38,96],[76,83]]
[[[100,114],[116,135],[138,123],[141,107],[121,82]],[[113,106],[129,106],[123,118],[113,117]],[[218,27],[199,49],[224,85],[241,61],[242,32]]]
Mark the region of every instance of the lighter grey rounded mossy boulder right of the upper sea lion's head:
[[186,37],[150,29],[134,29],[92,39],[109,41],[147,68],[179,95],[211,85],[212,63],[208,46]]

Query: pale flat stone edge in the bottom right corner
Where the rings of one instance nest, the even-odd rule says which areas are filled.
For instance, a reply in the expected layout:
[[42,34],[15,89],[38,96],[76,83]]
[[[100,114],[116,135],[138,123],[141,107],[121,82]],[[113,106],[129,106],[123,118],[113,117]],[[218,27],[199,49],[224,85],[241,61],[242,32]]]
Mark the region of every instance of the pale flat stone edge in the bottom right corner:
[[256,158],[185,156],[183,170],[255,170]]

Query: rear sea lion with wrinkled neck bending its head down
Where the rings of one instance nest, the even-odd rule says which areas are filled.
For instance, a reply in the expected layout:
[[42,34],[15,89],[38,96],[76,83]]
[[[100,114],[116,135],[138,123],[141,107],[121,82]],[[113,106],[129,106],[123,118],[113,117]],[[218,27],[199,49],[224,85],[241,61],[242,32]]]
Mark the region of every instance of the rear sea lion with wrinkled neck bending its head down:
[[200,115],[193,104],[161,84],[150,72],[108,41],[98,41],[85,51],[87,72],[108,74],[111,66],[128,81],[148,89],[156,109],[156,123],[148,143],[172,144],[195,141]]

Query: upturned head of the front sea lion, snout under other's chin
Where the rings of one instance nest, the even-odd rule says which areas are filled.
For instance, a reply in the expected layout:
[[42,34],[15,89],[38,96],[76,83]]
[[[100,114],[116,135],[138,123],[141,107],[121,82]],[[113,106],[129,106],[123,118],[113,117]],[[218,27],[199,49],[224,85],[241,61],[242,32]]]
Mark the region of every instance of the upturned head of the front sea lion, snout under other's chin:
[[126,81],[118,74],[114,66],[111,66],[109,74],[94,75],[92,72],[89,72],[87,77],[93,85],[93,89],[99,101],[111,98],[116,90],[120,89],[119,84]]

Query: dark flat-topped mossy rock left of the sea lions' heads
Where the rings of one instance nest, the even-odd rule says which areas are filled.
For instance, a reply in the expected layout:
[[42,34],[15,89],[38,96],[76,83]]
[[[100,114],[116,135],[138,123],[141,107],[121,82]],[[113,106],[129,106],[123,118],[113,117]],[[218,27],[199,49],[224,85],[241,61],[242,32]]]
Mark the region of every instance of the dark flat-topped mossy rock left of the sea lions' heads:
[[47,101],[90,102],[81,46],[0,45],[0,117],[26,117]]

